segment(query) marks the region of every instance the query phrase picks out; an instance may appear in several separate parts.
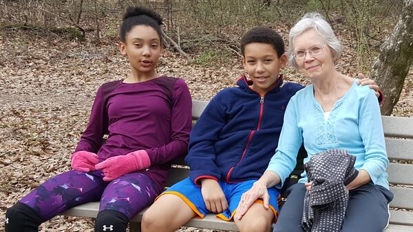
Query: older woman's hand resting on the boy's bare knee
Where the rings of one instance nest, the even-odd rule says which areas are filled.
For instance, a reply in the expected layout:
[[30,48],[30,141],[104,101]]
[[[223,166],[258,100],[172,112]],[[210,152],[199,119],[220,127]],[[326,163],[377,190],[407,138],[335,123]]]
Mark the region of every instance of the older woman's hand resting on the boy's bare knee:
[[241,201],[237,207],[237,213],[235,213],[234,218],[241,220],[242,216],[248,211],[248,209],[253,205],[255,200],[262,198],[264,201],[264,208],[268,209],[270,195],[268,194],[268,189],[264,183],[255,182],[253,187],[247,192],[244,192],[241,197]]

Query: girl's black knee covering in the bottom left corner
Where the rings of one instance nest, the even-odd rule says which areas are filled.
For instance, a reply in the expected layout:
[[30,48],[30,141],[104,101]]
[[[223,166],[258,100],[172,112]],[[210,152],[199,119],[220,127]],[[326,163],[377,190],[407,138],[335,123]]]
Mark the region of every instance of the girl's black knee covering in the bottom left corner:
[[17,202],[6,211],[6,231],[38,231],[42,219],[32,208]]

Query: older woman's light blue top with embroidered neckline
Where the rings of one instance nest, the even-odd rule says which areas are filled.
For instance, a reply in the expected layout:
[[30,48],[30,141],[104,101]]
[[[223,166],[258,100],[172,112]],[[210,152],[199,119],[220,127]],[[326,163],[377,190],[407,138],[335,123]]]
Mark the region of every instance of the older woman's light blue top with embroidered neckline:
[[[288,103],[284,125],[278,147],[267,170],[276,172],[282,182],[297,163],[297,153],[304,139],[304,147],[310,161],[313,154],[328,149],[344,149],[357,157],[354,167],[366,170],[375,185],[389,189],[388,156],[381,114],[377,97],[368,86],[361,86],[354,80],[348,92],[338,100],[330,111],[327,121],[324,111],[315,100],[313,85],[298,91]],[[307,181],[307,174],[301,174],[299,183]]]

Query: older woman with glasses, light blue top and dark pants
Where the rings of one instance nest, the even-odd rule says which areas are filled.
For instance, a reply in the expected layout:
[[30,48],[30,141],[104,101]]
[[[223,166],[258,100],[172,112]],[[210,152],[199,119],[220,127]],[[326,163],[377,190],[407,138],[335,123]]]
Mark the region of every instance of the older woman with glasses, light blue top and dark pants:
[[[242,196],[235,218],[242,218],[257,198],[263,198],[264,207],[268,206],[267,188],[282,187],[304,141],[308,152],[304,163],[329,149],[347,150],[356,156],[358,174],[346,185],[350,200],[341,231],[383,231],[390,217],[392,193],[385,172],[388,157],[377,97],[368,87],[357,85],[357,79],[335,69],[341,44],[320,14],[306,14],[290,30],[289,42],[290,64],[312,84],[288,103],[278,148],[266,172]],[[304,197],[312,183],[308,183],[306,172],[301,177],[287,190],[274,231],[303,231]]]

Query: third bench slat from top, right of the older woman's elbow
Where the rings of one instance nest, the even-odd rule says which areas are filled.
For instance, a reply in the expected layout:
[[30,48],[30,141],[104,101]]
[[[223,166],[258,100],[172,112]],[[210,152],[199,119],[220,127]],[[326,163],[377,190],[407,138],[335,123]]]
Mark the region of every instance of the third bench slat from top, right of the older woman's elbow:
[[413,185],[413,165],[403,163],[389,163],[389,183],[395,185]]

